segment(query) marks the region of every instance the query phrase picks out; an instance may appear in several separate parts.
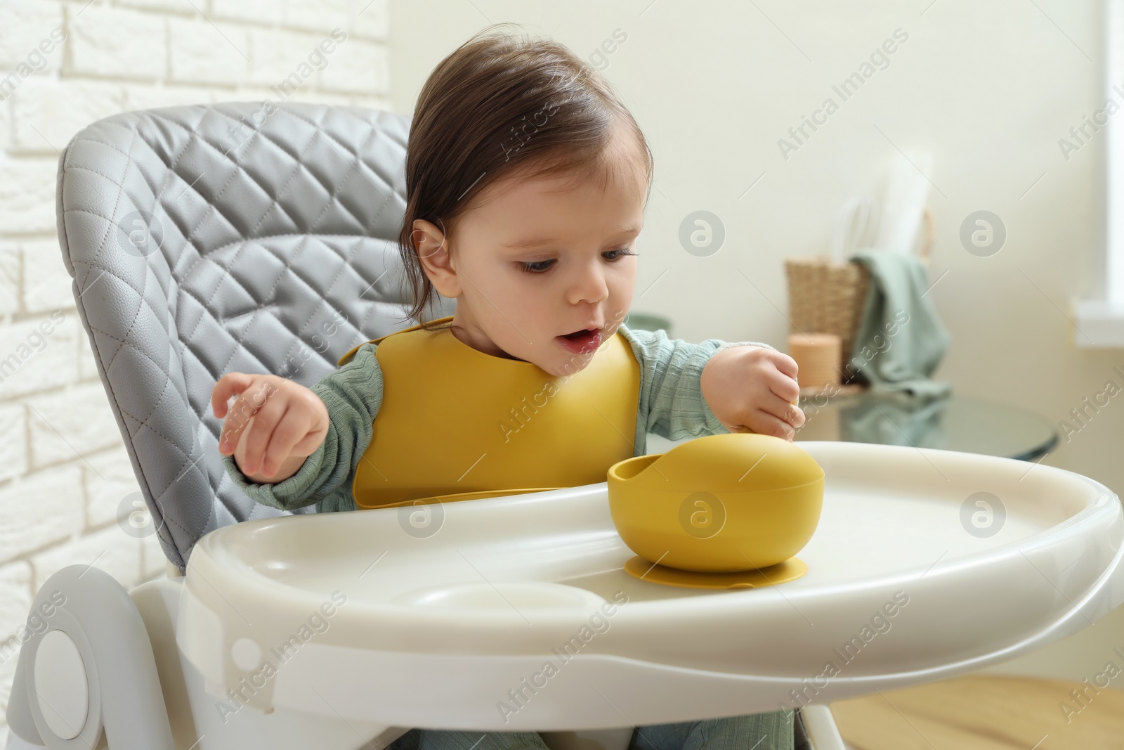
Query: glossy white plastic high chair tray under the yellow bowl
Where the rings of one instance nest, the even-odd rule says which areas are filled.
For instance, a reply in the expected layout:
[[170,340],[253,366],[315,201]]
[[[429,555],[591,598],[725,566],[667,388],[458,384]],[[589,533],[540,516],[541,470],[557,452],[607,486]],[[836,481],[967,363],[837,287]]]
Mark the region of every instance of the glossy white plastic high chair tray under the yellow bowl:
[[[1099,482],[970,453],[800,446],[826,489],[797,555],[808,572],[788,584],[633,578],[602,482],[432,506],[420,526],[417,508],[388,508],[216,530],[191,554],[176,639],[216,695],[260,672],[255,656],[275,663],[262,710],[546,731],[575,714],[655,724],[943,679],[1124,603],[1124,517]],[[1005,514],[992,501],[989,536],[966,521],[977,493]]]

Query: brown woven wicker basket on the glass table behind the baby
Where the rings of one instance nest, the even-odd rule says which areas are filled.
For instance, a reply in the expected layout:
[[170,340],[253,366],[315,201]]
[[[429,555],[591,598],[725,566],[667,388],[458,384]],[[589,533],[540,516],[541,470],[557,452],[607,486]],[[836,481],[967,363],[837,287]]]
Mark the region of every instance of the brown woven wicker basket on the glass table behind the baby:
[[[925,209],[925,238],[919,259],[928,265],[933,247],[933,217]],[[859,316],[867,300],[870,273],[853,261],[836,263],[827,255],[803,255],[785,259],[788,277],[789,333],[833,333],[842,343],[840,369],[842,380],[852,380],[846,369],[851,360]]]

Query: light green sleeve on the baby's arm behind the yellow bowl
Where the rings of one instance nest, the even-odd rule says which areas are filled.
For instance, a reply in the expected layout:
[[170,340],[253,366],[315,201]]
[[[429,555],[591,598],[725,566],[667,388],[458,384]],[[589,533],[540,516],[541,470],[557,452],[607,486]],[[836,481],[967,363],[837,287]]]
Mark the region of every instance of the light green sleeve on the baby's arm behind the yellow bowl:
[[636,435],[641,444],[647,433],[668,440],[728,433],[703,398],[703,368],[717,352],[731,346],[773,349],[755,341],[726,342],[719,338],[691,344],[681,338],[669,338],[665,331],[640,331],[624,325],[620,331],[641,365],[636,412]]

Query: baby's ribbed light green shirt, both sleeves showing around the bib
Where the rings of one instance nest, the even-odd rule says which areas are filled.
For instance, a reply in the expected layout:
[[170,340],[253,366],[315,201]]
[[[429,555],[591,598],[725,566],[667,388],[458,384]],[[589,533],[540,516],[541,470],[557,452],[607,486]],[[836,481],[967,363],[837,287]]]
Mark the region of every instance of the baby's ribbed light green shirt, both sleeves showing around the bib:
[[[707,338],[690,344],[668,338],[663,331],[619,331],[640,363],[640,404],[636,409],[636,436],[633,455],[646,452],[647,434],[668,440],[698,437],[729,432],[703,398],[699,379],[703,368],[716,352],[728,346],[769,344]],[[374,355],[378,344],[363,344],[355,356],[312,386],[328,408],[328,434],[315,453],[292,477],[259,485],[246,478],[234,461],[224,455],[230,479],[257,503],[292,510],[316,503],[317,513],[355,510],[352,484],[355,468],[371,442],[372,426],[382,404],[382,371]]]

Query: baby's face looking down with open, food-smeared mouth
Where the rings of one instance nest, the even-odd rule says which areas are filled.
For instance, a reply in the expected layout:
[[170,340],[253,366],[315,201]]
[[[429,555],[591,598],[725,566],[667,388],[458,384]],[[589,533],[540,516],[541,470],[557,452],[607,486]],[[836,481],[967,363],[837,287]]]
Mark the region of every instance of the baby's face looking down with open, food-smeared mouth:
[[[627,165],[604,190],[595,180],[559,191],[571,180],[491,186],[453,233],[453,293],[438,284],[456,297],[457,338],[555,376],[589,364],[632,305],[647,187]],[[596,333],[564,337],[583,328]]]

